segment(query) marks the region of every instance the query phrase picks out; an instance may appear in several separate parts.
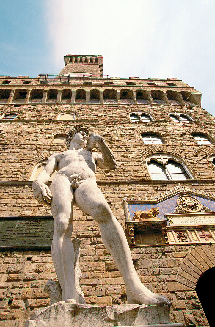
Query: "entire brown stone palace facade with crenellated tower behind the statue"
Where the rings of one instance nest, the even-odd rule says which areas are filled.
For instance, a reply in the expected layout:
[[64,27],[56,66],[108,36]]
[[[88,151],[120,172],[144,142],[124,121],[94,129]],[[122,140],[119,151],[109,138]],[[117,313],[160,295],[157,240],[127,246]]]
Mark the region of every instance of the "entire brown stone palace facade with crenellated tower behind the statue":
[[[97,183],[142,283],[172,301],[172,323],[212,326],[215,118],[201,93],[177,78],[104,76],[102,56],[64,62],[55,76],[0,76],[0,326],[25,326],[49,304],[53,220],[31,183],[76,126],[103,136],[116,157],[115,171],[97,169]],[[73,226],[86,302],[126,303],[98,224],[75,207]]]

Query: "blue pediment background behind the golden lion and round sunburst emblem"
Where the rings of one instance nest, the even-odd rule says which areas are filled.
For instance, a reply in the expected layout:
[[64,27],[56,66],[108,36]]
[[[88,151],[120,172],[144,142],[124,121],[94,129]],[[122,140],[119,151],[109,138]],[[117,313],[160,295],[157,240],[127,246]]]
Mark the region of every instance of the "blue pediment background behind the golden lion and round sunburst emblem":
[[[194,195],[191,195],[192,197],[198,199],[202,205],[208,207],[210,210],[215,211],[215,201],[213,200],[209,200],[206,198],[201,198],[201,197],[197,197]],[[159,215],[157,215],[156,217],[160,218],[161,220],[166,220],[166,218],[164,217],[165,214],[171,214],[173,213],[175,206],[176,206],[176,200],[178,198],[178,195],[175,195],[174,197],[170,198],[170,199],[166,199],[160,203],[146,203],[146,204],[139,204],[139,203],[134,203],[134,204],[128,204],[129,207],[129,212],[130,212],[130,216],[131,216],[131,221],[133,221],[133,216],[134,213],[138,210],[142,210],[142,211],[147,211],[151,208],[157,208],[160,212]]]

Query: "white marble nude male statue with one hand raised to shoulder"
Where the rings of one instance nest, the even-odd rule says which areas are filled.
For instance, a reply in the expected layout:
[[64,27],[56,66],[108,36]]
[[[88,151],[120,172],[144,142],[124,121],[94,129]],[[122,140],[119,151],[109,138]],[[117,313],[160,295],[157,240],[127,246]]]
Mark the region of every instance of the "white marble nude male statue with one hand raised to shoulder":
[[[83,150],[87,144],[87,149]],[[74,202],[80,210],[91,215],[99,224],[101,237],[111,253],[125,282],[128,303],[170,305],[162,295],[154,294],[142,285],[134,269],[126,236],[108,203],[97,187],[96,167],[116,169],[116,160],[103,137],[89,135],[87,128],[77,127],[66,136],[68,150],[50,156],[44,170],[32,183],[36,200],[51,206],[54,217],[52,259],[62,288],[62,301],[79,302],[74,281],[74,249],[71,241]],[[92,152],[98,145],[101,155]],[[50,189],[46,185],[57,170]]]

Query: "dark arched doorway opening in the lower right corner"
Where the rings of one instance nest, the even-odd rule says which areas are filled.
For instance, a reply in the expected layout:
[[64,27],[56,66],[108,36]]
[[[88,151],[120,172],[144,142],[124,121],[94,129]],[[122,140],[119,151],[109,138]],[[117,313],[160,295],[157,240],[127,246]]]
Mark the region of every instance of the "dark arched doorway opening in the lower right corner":
[[196,284],[196,293],[205,312],[210,327],[214,326],[215,267],[206,270]]

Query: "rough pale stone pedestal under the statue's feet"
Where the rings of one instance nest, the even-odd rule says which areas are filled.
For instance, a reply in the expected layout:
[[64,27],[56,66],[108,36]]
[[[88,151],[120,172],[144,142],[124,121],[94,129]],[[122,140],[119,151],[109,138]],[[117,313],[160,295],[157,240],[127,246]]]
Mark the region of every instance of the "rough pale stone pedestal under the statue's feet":
[[167,305],[98,306],[57,302],[36,310],[26,321],[26,327],[182,327],[183,324],[170,324],[169,311]]

